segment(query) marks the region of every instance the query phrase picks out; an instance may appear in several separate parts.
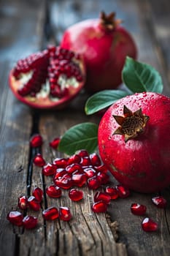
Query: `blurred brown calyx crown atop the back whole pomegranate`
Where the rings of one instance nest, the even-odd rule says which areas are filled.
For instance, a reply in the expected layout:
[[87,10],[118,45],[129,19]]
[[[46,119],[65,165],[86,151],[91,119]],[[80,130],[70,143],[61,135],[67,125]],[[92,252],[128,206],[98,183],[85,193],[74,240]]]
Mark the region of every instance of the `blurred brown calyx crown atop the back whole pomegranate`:
[[100,19],[101,19],[101,26],[104,27],[104,29],[107,29],[108,31],[112,31],[115,29],[120,23],[123,21],[120,19],[115,19],[115,12],[109,13],[109,15],[106,15],[105,12],[101,11]]

